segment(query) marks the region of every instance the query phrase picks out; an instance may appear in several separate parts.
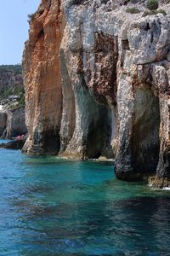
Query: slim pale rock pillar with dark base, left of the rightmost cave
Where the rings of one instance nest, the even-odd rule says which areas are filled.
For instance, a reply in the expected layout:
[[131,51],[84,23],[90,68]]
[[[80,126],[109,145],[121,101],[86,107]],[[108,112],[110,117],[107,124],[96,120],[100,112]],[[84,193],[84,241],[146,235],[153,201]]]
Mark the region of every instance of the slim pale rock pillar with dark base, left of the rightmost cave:
[[132,79],[120,72],[117,87],[118,108],[118,148],[116,153],[116,177],[131,180],[134,178],[131,165],[131,137],[133,133],[133,86]]

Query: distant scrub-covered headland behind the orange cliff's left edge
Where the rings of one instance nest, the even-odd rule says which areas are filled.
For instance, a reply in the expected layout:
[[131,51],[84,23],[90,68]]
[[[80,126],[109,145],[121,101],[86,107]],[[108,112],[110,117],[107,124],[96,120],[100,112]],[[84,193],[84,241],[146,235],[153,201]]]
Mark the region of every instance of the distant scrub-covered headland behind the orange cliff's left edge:
[[0,66],[0,137],[26,134],[22,70],[20,65]]

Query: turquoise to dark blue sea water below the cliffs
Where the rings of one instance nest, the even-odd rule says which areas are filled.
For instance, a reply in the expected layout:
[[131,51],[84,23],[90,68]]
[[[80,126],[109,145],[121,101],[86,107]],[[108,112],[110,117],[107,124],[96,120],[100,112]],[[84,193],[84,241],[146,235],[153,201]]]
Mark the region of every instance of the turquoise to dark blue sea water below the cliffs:
[[0,255],[170,255],[170,192],[0,149]]

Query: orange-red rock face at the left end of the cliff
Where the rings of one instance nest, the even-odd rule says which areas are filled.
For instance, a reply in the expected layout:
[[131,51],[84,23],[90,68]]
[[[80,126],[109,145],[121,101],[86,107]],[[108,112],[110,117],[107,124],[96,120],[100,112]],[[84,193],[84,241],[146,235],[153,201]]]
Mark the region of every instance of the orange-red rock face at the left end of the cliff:
[[59,0],[42,0],[31,17],[23,56],[29,154],[56,154],[62,109],[59,47],[62,39]]

